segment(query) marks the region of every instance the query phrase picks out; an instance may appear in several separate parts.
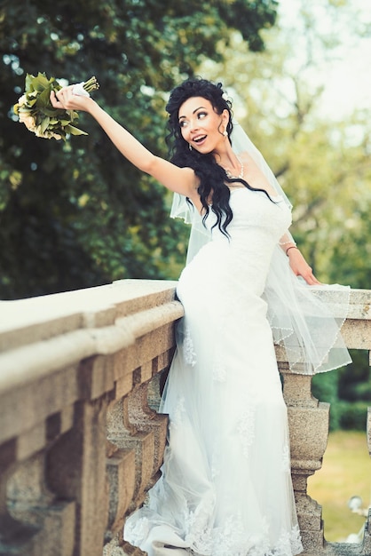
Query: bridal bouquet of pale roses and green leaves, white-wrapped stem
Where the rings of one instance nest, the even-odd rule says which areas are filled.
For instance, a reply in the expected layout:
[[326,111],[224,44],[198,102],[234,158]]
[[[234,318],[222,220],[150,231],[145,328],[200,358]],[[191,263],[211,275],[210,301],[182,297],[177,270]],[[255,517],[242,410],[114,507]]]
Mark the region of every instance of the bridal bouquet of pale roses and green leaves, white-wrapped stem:
[[[26,75],[25,92],[22,94],[13,110],[18,115],[20,122],[24,123],[29,131],[37,137],[44,139],[66,140],[67,133],[71,135],[88,135],[85,131],[73,125],[78,119],[74,110],[54,108],[51,105],[51,91],[59,91],[61,85],[54,77],[50,79],[44,73]],[[89,96],[91,91],[99,89],[95,77],[89,81],[74,85],[75,94]]]

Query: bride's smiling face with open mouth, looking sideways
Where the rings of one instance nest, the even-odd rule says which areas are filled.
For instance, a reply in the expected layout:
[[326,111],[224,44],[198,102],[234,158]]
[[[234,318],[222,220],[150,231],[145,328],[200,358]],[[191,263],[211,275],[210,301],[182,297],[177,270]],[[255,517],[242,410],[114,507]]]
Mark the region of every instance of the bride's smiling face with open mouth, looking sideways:
[[178,118],[183,138],[200,153],[218,151],[225,144],[228,110],[217,114],[208,99],[191,97],[179,108]]

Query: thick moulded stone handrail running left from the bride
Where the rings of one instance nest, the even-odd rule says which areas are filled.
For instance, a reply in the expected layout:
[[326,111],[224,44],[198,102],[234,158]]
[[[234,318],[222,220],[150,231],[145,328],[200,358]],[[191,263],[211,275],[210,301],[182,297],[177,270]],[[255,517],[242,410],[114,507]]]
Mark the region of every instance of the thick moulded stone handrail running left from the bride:
[[[114,353],[146,333],[149,321],[173,320],[174,313],[179,318],[182,307],[174,301],[176,283],[122,280],[87,290],[0,301],[0,394],[68,362]],[[53,344],[54,338],[58,342]],[[38,349],[41,342],[47,342],[48,349]]]

